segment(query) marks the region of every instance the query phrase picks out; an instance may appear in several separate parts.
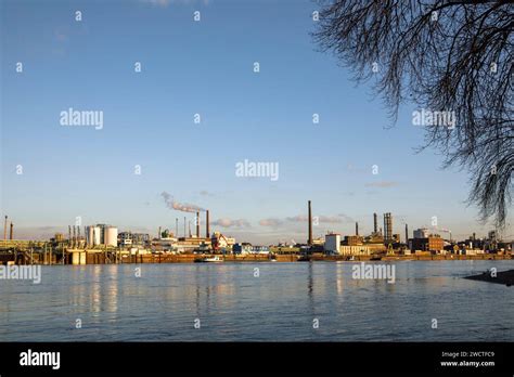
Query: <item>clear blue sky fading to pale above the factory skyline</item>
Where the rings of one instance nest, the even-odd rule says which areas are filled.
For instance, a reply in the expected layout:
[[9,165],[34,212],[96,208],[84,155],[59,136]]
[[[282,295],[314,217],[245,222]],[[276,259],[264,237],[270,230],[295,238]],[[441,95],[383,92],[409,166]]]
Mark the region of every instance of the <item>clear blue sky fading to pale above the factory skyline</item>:
[[[391,123],[373,82],[357,86],[319,50],[317,9],[1,1],[1,214],[15,238],[67,232],[77,217],[152,235],[179,218],[182,235],[194,213],[176,204],[209,209],[211,231],[237,240],[304,243],[309,199],[314,236],[354,234],[356,221],[369,234],[373,212],[381,225],[391,212],[402,239],[406,223],[412,236],[434,217],[453,237],[485,235],[491,225],[466,204],[467,172],[442,170],[438,151],[415,152],[415,104]],[[102,127],[63,126],[68,108],[102,112]],[[245,160],[278,176],[240,177]]]

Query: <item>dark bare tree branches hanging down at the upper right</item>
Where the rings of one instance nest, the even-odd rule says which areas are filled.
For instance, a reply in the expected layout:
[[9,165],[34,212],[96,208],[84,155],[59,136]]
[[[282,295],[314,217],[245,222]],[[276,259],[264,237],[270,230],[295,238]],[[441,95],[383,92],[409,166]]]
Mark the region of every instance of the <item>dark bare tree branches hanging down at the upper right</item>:
[[468,203],[503,226],[514,167],[513,29],[507,1],[343,0],[321,1],[314,39],[358,82],[376,76],[394,121],[406,101],[454,112],[454,128],[426,127],[421,150],[436,147],[445,167],[467,169]]

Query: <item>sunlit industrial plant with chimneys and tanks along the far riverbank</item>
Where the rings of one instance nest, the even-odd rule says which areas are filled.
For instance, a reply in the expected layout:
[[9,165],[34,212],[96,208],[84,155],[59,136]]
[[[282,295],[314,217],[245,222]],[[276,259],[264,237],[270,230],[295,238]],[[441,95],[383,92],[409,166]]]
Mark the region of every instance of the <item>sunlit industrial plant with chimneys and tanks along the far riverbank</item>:
[[[191,209],[188,208],[191,212]],[[323,238],[313,238],[312,203],[307,202],[306,243],[252,245],[237,243],[234,237],[219,231],[210,231],[209,210],[202,221],[201,211],[194,219],[175,219],[175,231],[159,226],[156,234],[118,231],[111,224],[87,226],[69,225],[67,236],[56,233],[49,240],[24,240],[14,237],[14,224],[4,218],[3,242],[0,245],[0,262],[8,264],[104,264],[104,263],[165,263],[165,262],[230,262],[230,261],[345,261],[345,260],[460,260],[460,259],[511,259],[513,243],[499,239],[496,231],[477,238],[475,233],[467,239],[452,239],[451,231],[420,227],[404,236],[395,233],[391,212],[385,212],[383,226],[373,213],[373,231],[342,235],[330,231]],[[179,227],[181,231],[179,231]],[[194,233],[192,231],[194,229]],[[440,233],[448,233],[449,238]]]

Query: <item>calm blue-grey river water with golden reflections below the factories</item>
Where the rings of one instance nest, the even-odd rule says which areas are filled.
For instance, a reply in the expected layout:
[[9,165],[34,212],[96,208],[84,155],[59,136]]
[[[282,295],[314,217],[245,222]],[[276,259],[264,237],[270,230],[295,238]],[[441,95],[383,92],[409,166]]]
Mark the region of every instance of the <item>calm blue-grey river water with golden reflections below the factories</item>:
[[0,341],[514,340],[514,288],[462,278],[514,261],[396,262],[395,284],[352,265],[43,266],[39,285],[0,281]]

